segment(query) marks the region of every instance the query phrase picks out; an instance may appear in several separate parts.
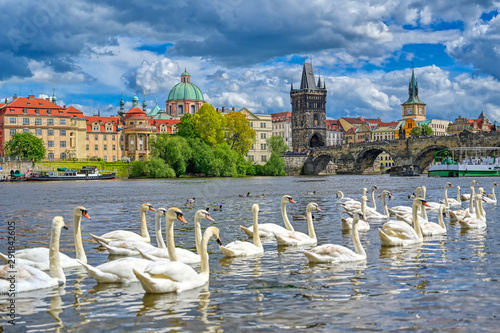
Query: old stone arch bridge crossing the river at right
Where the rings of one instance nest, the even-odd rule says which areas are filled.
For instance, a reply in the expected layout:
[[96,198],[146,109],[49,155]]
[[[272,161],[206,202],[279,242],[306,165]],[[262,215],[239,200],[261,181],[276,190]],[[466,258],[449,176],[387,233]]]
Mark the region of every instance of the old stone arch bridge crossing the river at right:
[[435,152],[458,147],[500,147],[500,132],[351,143],[285,155],[285,161],[289,175],[362,174],[373,167],[380,153],[386,152],[395,164],[391,171],[409,167],[422,171],[430,165]]

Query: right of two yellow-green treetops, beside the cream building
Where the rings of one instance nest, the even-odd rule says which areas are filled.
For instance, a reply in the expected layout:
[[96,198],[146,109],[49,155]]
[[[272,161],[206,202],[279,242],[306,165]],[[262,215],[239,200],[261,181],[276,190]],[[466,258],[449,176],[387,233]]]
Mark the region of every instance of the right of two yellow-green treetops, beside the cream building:
[[243,112],[232,111],[224,115],[226,119],[226,142],[231,149],[242,155],[255,143],[255,131],[250,127],[250,121]]

